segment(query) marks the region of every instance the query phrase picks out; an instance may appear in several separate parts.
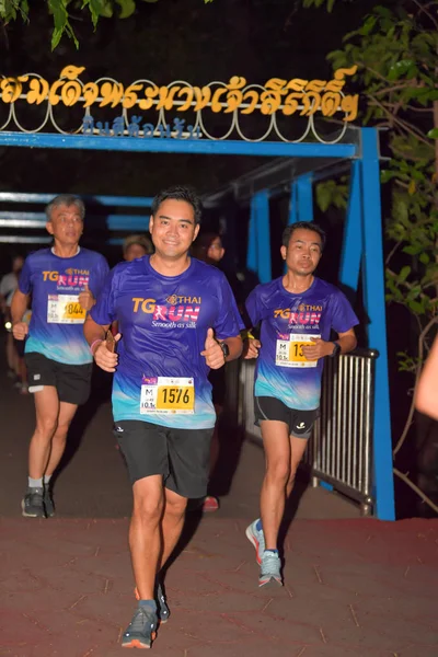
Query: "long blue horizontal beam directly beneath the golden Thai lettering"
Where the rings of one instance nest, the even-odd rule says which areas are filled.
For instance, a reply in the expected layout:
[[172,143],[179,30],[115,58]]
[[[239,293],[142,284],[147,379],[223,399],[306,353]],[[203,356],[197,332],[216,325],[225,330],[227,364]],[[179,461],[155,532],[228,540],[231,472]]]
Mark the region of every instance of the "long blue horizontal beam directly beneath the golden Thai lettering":
[[284,141],[237,141],[210,139],[145,139],[143,137],[99,137],[47,132],[1,132],[0,146],[108,150],[151,153],[197,153],[217,155],[264,155],[289,158],[355,158],[355,143],[286,143]]

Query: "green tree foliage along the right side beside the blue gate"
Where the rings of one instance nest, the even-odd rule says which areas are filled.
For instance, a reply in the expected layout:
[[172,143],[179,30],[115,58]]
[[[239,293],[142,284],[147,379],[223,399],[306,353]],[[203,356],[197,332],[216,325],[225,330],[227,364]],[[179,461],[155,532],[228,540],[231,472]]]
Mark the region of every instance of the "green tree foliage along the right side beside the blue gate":
[[[325,0],[303,4],[320,7]],[[326,9],[333,5],[326,0]],[[415,350],[399,354],[399,368],[414,374],[414,389],[438,323],[437,53],[438,1],[402,0],[374,7],[360,27],[345,36],[344,47],[327,57],[335,69],[358,65],[361,120],[388,129],[391,159],[381,174],[391,191],[387,300],[407,309],[416,326]],[[328,181],[318,198],[325,208],[331,203],[339,207],[345,192],[345,185]],[[413,400],[394,456],[413,422]]]

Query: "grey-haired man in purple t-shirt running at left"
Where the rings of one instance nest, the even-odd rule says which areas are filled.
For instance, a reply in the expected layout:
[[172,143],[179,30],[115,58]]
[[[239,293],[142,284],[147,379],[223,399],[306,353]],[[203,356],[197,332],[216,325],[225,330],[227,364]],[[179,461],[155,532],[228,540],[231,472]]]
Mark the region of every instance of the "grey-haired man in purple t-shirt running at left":
[[[90,394],[92,356],[82,324],[110,267],[100,253],[83,249],[85,207],[78,196],[60,195],[46,208],[54,244],[24,262],[11,306],[12,332],[25,342],[28,391],[36,426],[28,450],[28,485],[22,499],[26,518],[55,514],[50,480],[66,448],[67,433]],[[32,319],[22,321],[32,295]]]

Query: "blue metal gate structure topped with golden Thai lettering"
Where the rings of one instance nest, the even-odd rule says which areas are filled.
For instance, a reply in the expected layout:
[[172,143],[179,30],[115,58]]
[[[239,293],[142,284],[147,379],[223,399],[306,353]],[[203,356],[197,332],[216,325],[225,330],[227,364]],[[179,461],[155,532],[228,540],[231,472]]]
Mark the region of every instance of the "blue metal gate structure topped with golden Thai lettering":
[[[105,79],[104,83],[97,81],[96,83],[83,84],[79,81],[79,74],[83,70],[83,67],[66,67],[60,80],[51,85],[46,82],[47,87],[44,87],[43,82],[45,81],[36,74],[28,74],[27,78],[32,79],[35,84],[30,87],[27,94],[24,93],[24,85],[28,83],[26,77],[7,79],[10,81],[8,82],[10,87],[4,83],[0,89],[1,100],[7,106],[9,115],[3,126],[0,125],[0,146],[8,148],[79,149],[142,153],[251,155],[274,159],[266,166],[256,170],[254,174],[240,178],[239,184],[231,184],[235,189],[238,201],[240,196],[245,196],[250,201],[247,267],[258,275],[262,283],[267,283],[272,278],[269,198],[276,193],[278,181],[284,181],[290,191],[288,221],[293,223],[301,220],[313,220],[313,187],[315,183],[328,176],[332,177],[339,171],[349,172],[349,203],[346,212],[338,279],[341,284],[353,290],[358,289],[359,278],[361,280],[364,308],[368,316],[367,338],[368,345],[372,348],[370,358],[373,371],[372,385],[367,383],[368,388],[364,390],[364,394],[368,395],[370,401],[368,411],[366,408],[358,411],[357,407],[346,407],[349,408],[351,417],[357,417],[357,426],[364,419],[360,417],[361,413],[371,414],[370,426],[366,427],[371,440],[368,451],[372,454],[372,471],[370,471],[369,477],[370,497],[372,498],[376,516],[382,520],[393,520],[395,511],[384,303],[379,134],[373,128],[354,128],[347,123],[354,119],[357,114],[357,96],[345,95],[342,88],[345,83],[345,76],[353,74],[355,69],[339,69],[334,73],[334,79],[331,81],[293,79],[287,82],[272,79],[264,88],[254,84],[245,87],[246,81],[238,77],[231,78],[228,84],[211,83],[211,85],[204,88],[194,88],[183,82],[171,83],[166,88],[153,85],[152,83],[148,83],[148,87],[145,81],[140,81],[147,87],[145,97],[140,96],[140,84],[132,84],[126,89],[122,87],[122,92],[120,87],[116,87],[114,80],[108,81]],[[32,76],[34,77],[32,78]],[[320,85],[319,88],[316,83]],[[38,84],[39,87],[37,87]],[[105,84],[110,84],[111,89],[105,88]],[[212,91],[215,84],[216,91]],[[106,100],[105,93],[107,95]],[[19,102],[27,104],[47,103],[47,116],[38,130],[23,130],[15,114],[15,105]],[[67,110],[78,102],[83,102],[85,107],[85,116],[83,116],[80,127],[76,129],[74,134],[61,130],[55,122],[56,107],[64,103],[64,110]],[[112,107],[116,106],[117,103],[120,104],[120,116],[114,119],[112,124],[103,118],[97,122],[91,116],[91,111],[94,113],[93,103],[96,104],[97,102],[100,102],[97,112],[101,112],[100,108],[105,104],[106,106],[111,104]],[[151,116],[151,112],[155,112],[159,117],[158,122],[141,124],[141,120],[145,119],[137,114],[129,114],[132,107],[135,112],[146,113],[147,118]],[[226,114],[230,117],[231,128],[224,136],[214,138],[208,132],[205,116],[206,107],[210,112],[210,116],[217,116],[221,120]],[[166,113],[171,110],[176,112],[194,111],[195,120],[193,125],[186,125],[184,119],[181,118],[175,118],[172,125],[166,123]],[[253,137],[250,139],[243,134],[242,125],[239,122],[243,114],[251,114],[255,111],[260,111],[258,118],[268,120],[269,125],[268,130],[265,130],[261,138]],[[332,136],[321,136],[321,131],[316,128],[316,117],[330,118],[335,112],[344,113],[344,122],[338,122],[342,127],[337,135],[334,138]],[[290,120],[289,117],[296,113],[297,116],[306,117],[307,127],[300,138],[288,140],[281,130],[284,130],[286,119]],[[277,118],[278,115],[280,116]],[[55,125],[57,132],[43,131],[43,128],[49,122]],[[8,129],[11,125],[19,129]],[[240,139],[230,139],[229,137],[235,132],[238,132]],[[267,137],[270,136],[273,137],[268,140]],[[276,172],[273,177],[274,169]],[[80,189],[78,189],[78,193],[80,194]],[[205,197],[206,205],[220,206],[222,194],[221,191],[207,194]],[[3,230],[10,228],[10,237],[15,234],[16,241],[20,239],[16,237],[18,229],[26,228],[27,230],[32,227],[43,226],[43,212],[28,212],[26,215],[20,211],[20,216],[18,216],[15,210],[1,211],[1,207],[2,204],[13,203],[42,204],[46,203],[49,197],[51,196],[14,195],[13,192],[0,194],[0,228]],[[145,218],[149,216],[150,198],[95,197],[94,200],[108,208],[136,209],[136,214],[128,211],[125,215],[118,212],[107,215],[106,228],[111,231],[110,239],[116,240],[116,243],[119,238],[114,232],[120,230],[135,230],[138,232],[141,230],[140,227],[146,228]],[[22,239],[24,240],[25,237],[22,235]],[[378,357],[374,357],[377,354]],[[354,357],[360,357],[360,355]],[[344,364],[341,364],[339,367],[344,368]],[[348,368],[350,368],[350,365],[346,364],[346,381],[353,376],[353,370]],[[346,392],[344,391],[342,394],[345,395]],[[345,410],[343,410],[343,413],[345,414]],[[350,430],[356,430],[351,423],[346,422],[343,426],[345,430],[348,426]],[[339,452],[351,447],[350,442],[344,440],[339,433],[337,433],[336,440],[338,441],[337,450]],[[351,458],[356,459],[358,457],[351,454]],[[333,487],[336,487],[337,481],[343,483],[341,473],[336,473],[336,471],[324,474],[323,468],[316,468],[315,475],[321,476],[326,485]],[[355,482],[346,482],[346,486],[357,487]]]

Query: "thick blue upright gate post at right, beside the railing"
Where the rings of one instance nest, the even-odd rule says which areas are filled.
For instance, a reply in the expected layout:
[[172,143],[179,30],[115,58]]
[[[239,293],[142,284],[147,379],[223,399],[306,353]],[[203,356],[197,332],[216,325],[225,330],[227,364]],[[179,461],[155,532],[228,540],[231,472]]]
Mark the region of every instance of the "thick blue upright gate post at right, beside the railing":
[[388,378],[387,318],[384,306],[384,267],[380,203],[379,134],[362,128],[362,235],[364,295],[369,318],[369,345],[378,349],[376,361],[373,463],[377,517],[394,520],[394,483],[390,391]]

